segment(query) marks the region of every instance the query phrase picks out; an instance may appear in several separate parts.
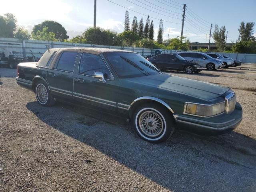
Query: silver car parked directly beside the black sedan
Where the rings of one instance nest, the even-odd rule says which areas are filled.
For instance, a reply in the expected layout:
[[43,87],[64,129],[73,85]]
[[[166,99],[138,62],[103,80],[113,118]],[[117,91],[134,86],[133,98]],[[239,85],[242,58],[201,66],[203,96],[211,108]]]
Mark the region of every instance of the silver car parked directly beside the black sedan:
[[206,68],[207,70],[221,69],[225,65],[221,60],[214,59],[207,54],[199,52],[179,52],[178,55],[182,56],[188,61],[193,61],[198,63],[200,66]]

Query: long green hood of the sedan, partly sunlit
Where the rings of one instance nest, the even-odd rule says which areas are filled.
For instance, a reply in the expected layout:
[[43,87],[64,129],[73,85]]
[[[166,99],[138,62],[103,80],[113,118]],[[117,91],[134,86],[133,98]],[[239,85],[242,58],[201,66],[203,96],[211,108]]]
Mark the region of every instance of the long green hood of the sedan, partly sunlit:
[[130,78],[129,81],[158,87],[160,89],[180,92],[206,101],[222,96],[230,90],[230,88],[216,84],[180,78],[168,74]]

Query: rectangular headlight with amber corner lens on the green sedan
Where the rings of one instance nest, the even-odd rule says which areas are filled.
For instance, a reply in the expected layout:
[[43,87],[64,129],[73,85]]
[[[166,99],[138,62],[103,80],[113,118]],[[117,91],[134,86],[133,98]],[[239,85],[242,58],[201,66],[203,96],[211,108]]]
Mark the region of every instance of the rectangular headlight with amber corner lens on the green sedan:
[[221,114],[225,111],[225,102],[204,105],[197,103],[186,102],[184,106],[184,114],[190,114],[194,116],[211,117],[217,114]]

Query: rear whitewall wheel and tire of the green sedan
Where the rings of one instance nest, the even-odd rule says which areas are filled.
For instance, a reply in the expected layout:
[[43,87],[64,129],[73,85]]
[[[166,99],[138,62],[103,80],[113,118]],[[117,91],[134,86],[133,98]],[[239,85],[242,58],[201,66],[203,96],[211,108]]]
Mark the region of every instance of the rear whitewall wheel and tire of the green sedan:
[[52,106],[55,103],[47,84],[40,80],[36,84],[36,99],[38,103],[42,106]]

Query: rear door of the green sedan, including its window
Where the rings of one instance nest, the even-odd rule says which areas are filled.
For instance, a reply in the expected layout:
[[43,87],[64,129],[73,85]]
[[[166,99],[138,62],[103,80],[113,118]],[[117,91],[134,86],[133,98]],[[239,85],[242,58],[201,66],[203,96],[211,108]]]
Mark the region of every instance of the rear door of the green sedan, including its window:
[[56,98],[72,99],[74,66],[78,51],[63,51],[53,69],[47,71],[46,79]]

